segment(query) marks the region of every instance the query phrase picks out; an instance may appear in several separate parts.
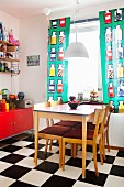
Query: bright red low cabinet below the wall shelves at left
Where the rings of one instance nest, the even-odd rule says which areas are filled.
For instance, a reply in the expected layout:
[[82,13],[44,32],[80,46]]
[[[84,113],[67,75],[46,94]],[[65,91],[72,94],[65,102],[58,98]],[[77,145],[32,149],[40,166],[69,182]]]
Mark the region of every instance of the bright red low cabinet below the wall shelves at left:
[[33,129],[32,108],[0,112],[0,140],[31,129]]

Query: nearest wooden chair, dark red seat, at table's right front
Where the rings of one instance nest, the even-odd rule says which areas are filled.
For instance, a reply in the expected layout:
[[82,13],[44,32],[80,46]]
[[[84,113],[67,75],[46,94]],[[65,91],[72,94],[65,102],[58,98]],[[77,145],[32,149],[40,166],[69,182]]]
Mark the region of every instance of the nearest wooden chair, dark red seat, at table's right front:
[[[87,130],[87,145],[92,145],[92,151],[93,151],[93,160],[94,160],[94,170],[95,175],[99,176],[98,172],[98,165],[97,165],[97,142],[99,141],[99,150],[100,150],[100,158],[101,158],[101,164],[103,164],[103,158],[102,158],[102,133],[99,131],[100,124],[103,127],[103,120],[104,120],[104,113],[105,113],[105,108],[102,109],[95,109],[94,111],[94,120],[93,124],[95,125],[94,130]],[[102,128],[101,128],[102,130]],[[81,125],[78,125],[67,132],[63,136],[63,169],[65,169],[65,144],[66,143],[75,143],[75,144],[82,144],[82,128]]]

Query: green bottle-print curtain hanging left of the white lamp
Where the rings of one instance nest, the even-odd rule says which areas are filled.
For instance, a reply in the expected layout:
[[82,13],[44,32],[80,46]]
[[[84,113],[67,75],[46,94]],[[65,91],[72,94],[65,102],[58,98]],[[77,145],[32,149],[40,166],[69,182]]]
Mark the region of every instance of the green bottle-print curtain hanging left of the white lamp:
[[70,18],[49,21],[47,100],[68,100],[68,61],[64,58],[69,44]]

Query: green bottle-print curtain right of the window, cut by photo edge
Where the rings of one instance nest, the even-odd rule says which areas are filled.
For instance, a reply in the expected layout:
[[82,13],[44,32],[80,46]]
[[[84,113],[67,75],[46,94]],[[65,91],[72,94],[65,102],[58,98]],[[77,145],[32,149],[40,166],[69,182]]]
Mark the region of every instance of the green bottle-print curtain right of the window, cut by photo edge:
[[102,11],[99,19],[103,102],[124,112],[124,9]]

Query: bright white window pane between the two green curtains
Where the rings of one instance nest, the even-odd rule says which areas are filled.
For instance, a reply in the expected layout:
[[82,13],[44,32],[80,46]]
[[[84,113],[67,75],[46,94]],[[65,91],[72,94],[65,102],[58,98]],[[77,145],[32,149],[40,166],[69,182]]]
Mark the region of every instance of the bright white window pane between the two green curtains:
[[[89,97],[89,91],[98,90],[99,77],[99,22],[87,22],[77,24],[77,41],[82,42],[88,50],[89,58],[76,58],[68,61],[68,96],[78,96],[83,92],[83,97]],[[75,25],[70,26],[69,42],[76,41]]]

